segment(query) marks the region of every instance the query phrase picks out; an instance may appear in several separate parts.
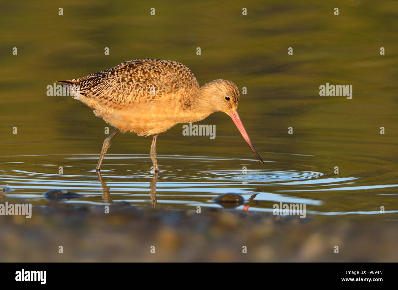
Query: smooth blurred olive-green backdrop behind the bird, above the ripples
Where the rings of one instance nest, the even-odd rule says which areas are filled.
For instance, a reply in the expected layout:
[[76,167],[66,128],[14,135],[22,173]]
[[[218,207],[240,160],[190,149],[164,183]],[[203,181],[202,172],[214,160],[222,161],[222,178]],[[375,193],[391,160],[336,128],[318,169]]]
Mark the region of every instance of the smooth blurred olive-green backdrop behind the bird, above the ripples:
[[[236,83],[241,92],[247,87],[239,111],[259,151],[327,150],[329,155],[397,158],[396,1],[0,5],[2,154],[97,152],[104,122],[76,100],[48,97],[46,86],[122,61],[156,58],[187,65],[200,85],[222,78]],[[58,14],[59,7],[63,15]],[[152,7],[156,15],[150,15]],[[335,7],[339,15],[334,15]],[[13,47],[18,55],[12,54]],[[104,54],[105,47],[109,55]],[[201,55],[196,54],[197,47]],[[384,56],[380,47],[385,48]],[[326,82],[353,85],[353,99],[320,97],[319,86]],[[216,113],[203,123],[217,124],[215,142],[207,138],[181,142],[182,130],[176,126],[160,136],[159,154],[211,150],[222,155],[218,145],[223,137],[232,142],[228,154],[242,151],[242,137],[227,116]],[[14,126],[18,135],[11,134]],[[287,135],[289,126],[293,136]],[[381,126],[385,135],[379,134]],[[146,152],[150,142],[146,139],[119,137],[117,146],[125,153],[132,148]]]

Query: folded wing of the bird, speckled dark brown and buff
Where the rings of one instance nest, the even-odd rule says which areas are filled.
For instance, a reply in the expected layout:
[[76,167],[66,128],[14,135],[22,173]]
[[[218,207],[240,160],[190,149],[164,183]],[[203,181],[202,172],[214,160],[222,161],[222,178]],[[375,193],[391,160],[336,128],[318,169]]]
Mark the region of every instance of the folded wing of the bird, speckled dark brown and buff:
[[65,81],[78,86],[85,98],[103,106],[123,108],[160,98],[173,99],[181,90],[199,90],[193,73],[183,64],[166,60],[133,60]]

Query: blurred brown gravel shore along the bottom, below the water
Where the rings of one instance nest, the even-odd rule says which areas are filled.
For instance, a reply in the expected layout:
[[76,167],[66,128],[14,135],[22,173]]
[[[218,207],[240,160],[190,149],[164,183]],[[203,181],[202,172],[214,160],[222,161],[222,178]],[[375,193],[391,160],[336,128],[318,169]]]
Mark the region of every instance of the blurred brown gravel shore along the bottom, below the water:
[[[6,201],[22,203],[7,197],[0,203]],[[398,260],[396,222],[374,216],[300,219],[221,208],[196,213],[126,202],[115,202],[104,213],[104,206],[50,202],[32,207],[30,219],[0,215],[0,232],[1,262]]]

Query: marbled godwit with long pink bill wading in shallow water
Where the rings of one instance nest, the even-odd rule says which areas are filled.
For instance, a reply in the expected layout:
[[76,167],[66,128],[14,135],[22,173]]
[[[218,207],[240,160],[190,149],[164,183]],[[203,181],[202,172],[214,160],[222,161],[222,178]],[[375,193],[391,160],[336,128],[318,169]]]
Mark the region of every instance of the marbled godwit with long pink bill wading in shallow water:
[[[211,113],[229,115],[263,163],[236,110],[237,86],[217,79],[200,87],[193,73],[183,64],[168,60],[131,60],[80,79],[58,81],[78,86],[79,100],[94,109],[97,117],[115,127],[103,141],[96,171],[117,132],[134,132],[138,136],[153,135],[150,157],[156,172],[156,137],[178,123],[197,122]],[[68,88],[72,94],[72,89]]]

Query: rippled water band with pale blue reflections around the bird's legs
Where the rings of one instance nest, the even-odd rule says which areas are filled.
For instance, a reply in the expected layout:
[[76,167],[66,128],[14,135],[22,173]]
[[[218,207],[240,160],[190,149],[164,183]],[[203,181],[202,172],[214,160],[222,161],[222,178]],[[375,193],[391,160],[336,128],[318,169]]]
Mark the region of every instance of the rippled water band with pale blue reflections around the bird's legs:
[[[146,170],[151,165],[147,155],[108,154],[100,176],[93,171],[97,155],[12,156],[13,163],[1,164],[0,184],[14,189],[7,192],[8,196],[23,198],[33,205],[48,204],[43,193],[51,189],[83,194],[68,203],[124,201],[178,209],[196,209],[198,205],[221,207],[213,203],[213,198],[237,193],[245,203],[236,210],[272,212],[273,204],[283,202],[306,204],[307,215],[377,215],[382,204],[390,218],[398,216],[394,207],[396,176],[341,176],[322,165],[300,165],[304,160],[316,163],[320,160],[316,156],[263,156],[272,156],[273,160],[262,165],[254,159],[160,155],[162,171],[156,175],[156,188],[152,190],[155,175]],[[26,159],[33,162],[22,161]],[[351,162],[353,166],[365,165]],[[176,163],[184,169],[176,168]],[[63,164],[63,174],[58,173],[58,164]],[[372,165],[380,171],[386,167],[385,163]],[[250,169],[244,173],[244,167]]]

